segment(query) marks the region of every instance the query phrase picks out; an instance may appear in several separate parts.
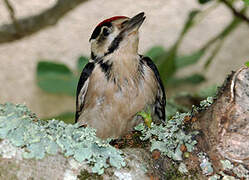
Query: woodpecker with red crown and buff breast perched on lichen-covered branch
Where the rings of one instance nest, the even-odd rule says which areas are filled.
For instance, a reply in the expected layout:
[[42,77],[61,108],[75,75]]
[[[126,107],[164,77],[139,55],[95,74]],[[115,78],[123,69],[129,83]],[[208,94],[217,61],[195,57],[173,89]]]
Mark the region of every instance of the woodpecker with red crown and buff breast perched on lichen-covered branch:
[[140,111],[165,121],[165,91],[157,67],[138,54],[144,13],[99,23],[89,42],[91,58],[77,86],[75,122],[100,138],[118,138],[141,122]]

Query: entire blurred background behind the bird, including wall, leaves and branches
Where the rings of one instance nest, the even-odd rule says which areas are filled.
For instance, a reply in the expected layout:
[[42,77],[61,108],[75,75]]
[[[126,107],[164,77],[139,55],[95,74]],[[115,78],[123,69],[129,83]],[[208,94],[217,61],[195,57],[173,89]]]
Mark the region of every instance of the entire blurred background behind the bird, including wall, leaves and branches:
[[38,117],[71,122],[93,29],[143,11],[139,52],[160,70],[168,115],[187,111],[249,60],[247,7],[248,0],[2,0],[0,103],[25,103]]

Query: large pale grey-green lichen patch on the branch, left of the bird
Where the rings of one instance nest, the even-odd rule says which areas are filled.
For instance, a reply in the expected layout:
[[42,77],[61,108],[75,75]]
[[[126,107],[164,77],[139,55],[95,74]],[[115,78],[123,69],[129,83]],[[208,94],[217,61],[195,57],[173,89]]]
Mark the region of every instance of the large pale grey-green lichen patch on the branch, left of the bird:
[[[61,152],[78,162],[89,163],[92,172],[98,174],[110,166],[125,166],[123,153],[109,145],[108,140],[97,138],[94,129],[57,120],[39,120],[20,104],[0,104],[0,139],[22,148],[24,158],[42,159],[46,154]],[[0,151],[2,156],[8,153]]]

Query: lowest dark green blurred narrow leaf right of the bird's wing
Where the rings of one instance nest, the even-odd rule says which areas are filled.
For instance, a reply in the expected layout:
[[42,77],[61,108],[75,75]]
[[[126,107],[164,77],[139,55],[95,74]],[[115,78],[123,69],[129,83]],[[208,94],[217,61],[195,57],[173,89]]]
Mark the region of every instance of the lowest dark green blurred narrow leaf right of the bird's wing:
[[169,85],[179,86],[182,84],[199,84],[205,81],[205,77],[201,74],[193,74],[185,78],[170,78]]

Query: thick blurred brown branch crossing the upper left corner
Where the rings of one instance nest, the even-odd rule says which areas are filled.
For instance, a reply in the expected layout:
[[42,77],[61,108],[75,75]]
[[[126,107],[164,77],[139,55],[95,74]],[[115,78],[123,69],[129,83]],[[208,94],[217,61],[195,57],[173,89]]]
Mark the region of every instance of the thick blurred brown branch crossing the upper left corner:
[[[7,0],[5,0],[5,3],[6,1]],[[1,25],[0,43],[12,42],[55,25],[69,11],[86,1],[88,0],[58,0],[53,7],[44,10],[40,14],[17,19],[11,24]],[[18,28],[16,26],[17,24]]]

